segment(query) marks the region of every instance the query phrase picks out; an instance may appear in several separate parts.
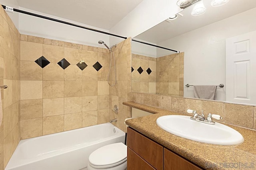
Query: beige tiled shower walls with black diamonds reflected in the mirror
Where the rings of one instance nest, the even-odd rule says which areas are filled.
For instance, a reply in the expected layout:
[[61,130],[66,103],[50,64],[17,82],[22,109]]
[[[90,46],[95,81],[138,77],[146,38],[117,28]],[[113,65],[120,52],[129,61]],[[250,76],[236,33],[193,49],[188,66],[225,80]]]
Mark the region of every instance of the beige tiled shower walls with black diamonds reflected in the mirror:
[[132,92],[183,96],[184,52],[163,57],[132,54]]

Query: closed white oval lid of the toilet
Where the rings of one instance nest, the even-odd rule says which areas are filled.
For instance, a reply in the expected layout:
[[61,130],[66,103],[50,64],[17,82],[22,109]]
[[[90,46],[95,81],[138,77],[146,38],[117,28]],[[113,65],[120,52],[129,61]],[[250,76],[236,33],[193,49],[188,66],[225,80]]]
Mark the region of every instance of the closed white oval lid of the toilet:
[[94,166],[116,164],[127,158],[127,146],[123,143],[113,143],[101,147],[89,156],[89,162]]

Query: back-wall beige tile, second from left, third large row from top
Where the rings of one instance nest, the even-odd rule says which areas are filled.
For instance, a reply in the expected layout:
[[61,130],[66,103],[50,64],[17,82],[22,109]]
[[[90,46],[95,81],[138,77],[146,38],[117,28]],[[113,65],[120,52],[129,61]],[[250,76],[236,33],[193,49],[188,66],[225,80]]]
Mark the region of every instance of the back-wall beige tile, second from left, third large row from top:
[[43,98],[63,98],[64,81],[43,81]]

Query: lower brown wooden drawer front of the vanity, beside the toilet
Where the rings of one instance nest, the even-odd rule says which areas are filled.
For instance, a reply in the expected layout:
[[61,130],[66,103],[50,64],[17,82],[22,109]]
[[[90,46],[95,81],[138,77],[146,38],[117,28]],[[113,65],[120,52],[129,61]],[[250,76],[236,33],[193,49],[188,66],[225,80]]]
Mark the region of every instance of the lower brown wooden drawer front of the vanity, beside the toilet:
[[127,170],[156,170],[138,154],[127,147]]

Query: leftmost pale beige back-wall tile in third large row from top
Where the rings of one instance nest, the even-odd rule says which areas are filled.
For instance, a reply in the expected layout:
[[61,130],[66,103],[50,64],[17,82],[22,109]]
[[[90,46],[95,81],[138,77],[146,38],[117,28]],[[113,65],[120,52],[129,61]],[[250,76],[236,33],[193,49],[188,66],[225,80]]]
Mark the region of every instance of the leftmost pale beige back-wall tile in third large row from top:
[[20,81],[20,100],[42,99],[43,81]]

